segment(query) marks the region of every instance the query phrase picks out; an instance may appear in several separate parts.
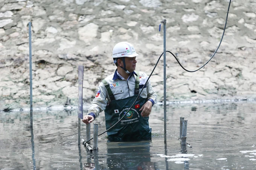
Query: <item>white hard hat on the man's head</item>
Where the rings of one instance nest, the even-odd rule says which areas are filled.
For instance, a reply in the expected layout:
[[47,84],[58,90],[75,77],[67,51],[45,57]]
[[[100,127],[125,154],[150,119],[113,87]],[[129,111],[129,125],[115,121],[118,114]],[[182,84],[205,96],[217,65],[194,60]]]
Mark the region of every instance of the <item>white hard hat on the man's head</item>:
[[119,42],[113,48],[113,58],[136,56],[139,56],[139,54],[136,53],[135,48],[129,42]]

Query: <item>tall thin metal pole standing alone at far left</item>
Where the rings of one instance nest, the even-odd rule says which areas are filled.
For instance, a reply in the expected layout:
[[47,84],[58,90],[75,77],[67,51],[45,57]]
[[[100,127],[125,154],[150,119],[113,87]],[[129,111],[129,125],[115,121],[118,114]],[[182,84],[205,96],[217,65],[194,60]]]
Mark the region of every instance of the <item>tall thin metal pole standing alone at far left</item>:
[[29,22],[29,85],[30,85],[30,112],[33,111],[32,100],[32,43],[31,43],[31,22]]

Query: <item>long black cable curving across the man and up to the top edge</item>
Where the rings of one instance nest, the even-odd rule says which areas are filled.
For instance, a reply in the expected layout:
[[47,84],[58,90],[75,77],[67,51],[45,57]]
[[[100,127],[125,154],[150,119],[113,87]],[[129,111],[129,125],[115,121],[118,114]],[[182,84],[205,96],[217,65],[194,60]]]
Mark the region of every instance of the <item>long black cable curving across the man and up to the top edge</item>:
[[[230,4],[231,4],[231,0],[229,1],[229,8],[230,8]],[[229,8],[228,8],[228,10],[227,10],[226,23],[225,23],[224,30],[223,30],[223,33],[222,33],[221,41],[219,42],[219,46],[221,45],[221,42],[222,42],[222,39],[223,39],[225,30],[226,30],[227,18],[228,18],[228,15],[229,15]],[[172,56],[175,57],[175,59],[177,60],[177,62],[178,62],[179,65],[181,66],[181,68],[183,68],[185,71],[187,71],[187,72],[196,72],[196,71],[200,70],[201,68],[203,68],[203,67],[213,58],[213,56],[216,54],[217,50],[219,49],[219,46],[218,46],[218,48],[216,49],[216,51],[213,53],[212,57],[211,57],[203,66],[201,66],[199,69],[194,70],[194,71],[189,71],[189,70],[185,69],[185,68],[180,64],[180,62],[179,62],[179,60],[177,59],[177,57],[176,57],[171,51],[166,51],[166,52],[171,53]],[[159,60],[160,60],[160,58],[162,57],[162,55],[163,55],[163,53],[162,53],[161,56],[158,58],[157,63],[156,63],[155,66],[154,66],[154,69],[152,70],[151,74],[150,74],[149,77],[148,77],[148,80],[149,80],[149,78],[151,77],[151,75],[153,74],[153,72],[154,72],[154,70],[155,70],[155,68],[156,68],[156,66],[157,66],[157,64],[158,64],[158,62],[159,62]],[[146,81],[146,83],[148,83],[148,80]],[[144,84],[144,86],[146,85],[146,83]],[[144,88],[144,86],[142,87],[142,89]],[[131,107],[128,109],[128,111],[126,111],[126,113],[123,115],[123,117],[125,117],[125,115],[131,110],[131,108],[133,107],[134,103],[137,101],[137,99],[139,98],[139,96],[140,96],[141,93],[142,93],[142,90],[140,91],[139,95],[137,96],[137,98],[135,99],[135,101],[133,102],[133,104],[131,105]],[[119,119],[119,120],[118,120],[113,126],[111,126],[109,129],[113,128],[118,122],[120,122],[120,120],[123,119],[123,117],[121,117],[121,119]],[[102,132],[102,133],[99,134],[98,136],[104,134],[104,133],[107,132],[109,129],[107,129],[106,131]],[[90,141],[90,140],[92,140],[92,139],[93,139],[93,138],[90,138],[88,141]],[[86,143],[87,143],[88,141],[86,141],[84,145],[86,145]]]

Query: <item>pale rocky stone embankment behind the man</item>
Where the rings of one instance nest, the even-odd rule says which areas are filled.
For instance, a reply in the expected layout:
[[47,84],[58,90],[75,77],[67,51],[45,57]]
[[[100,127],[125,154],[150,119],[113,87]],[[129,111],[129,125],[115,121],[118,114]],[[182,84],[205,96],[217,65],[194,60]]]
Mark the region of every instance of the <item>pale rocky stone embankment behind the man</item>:
[[[28,22],[32,22],[34,106],[76,105],[78,65],[84,66],[84,102],[116,69],[117,42],[137,53],[148,75],[166,49],[194,70],[219,44],[228,0],[0,0],[0,108],[29,107]],[[232,0],[227,29],[215,57],[198,72],[184,71],[167,54],[169,101],[256,96],[256,1]],[[163,59],[151,77],[163,100]],[[67,100],[67,98],[69,98]]]

